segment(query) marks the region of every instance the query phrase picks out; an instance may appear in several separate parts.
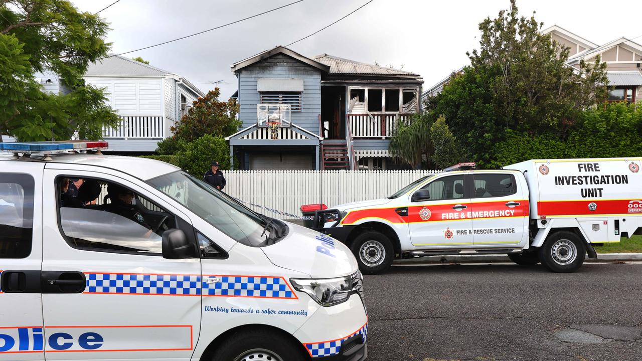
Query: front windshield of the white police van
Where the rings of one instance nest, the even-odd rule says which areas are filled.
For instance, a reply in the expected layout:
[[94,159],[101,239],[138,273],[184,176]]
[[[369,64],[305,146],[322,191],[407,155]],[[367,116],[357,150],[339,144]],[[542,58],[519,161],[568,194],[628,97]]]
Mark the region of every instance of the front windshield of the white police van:
[[[185,172],[162,175],[149,180],[148,183],[177,200],[236,242],[261,247],[273,240],[273,234],[283,234],[273,229],[277,225],[267,225],[265,216],[241,206],[231,197]],[[267,229],[270,227],[272,229]]]

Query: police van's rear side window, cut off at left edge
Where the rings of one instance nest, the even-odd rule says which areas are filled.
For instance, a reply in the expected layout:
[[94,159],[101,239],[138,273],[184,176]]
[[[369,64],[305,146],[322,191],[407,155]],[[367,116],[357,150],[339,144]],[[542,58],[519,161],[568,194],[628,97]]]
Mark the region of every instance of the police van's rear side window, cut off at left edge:
[[33,177],[0,173],[0,258],[31,254]]

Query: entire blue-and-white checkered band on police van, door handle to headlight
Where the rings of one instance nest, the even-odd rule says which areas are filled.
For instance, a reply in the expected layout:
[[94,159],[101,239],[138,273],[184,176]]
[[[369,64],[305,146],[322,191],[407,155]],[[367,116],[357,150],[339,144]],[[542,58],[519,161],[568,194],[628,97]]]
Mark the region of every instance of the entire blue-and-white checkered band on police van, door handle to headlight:
[[[85,273],[85,294],[204,295],[297,299],[277,276]],[[214,281],[214,282],[212,282]]]

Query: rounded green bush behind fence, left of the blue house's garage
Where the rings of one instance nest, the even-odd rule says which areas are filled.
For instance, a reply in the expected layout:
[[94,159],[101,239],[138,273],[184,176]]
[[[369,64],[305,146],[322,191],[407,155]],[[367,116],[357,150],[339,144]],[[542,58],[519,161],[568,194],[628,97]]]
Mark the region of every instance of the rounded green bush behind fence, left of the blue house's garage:
[[222,170],[230,169],[230,147],[222,137],[205,134],[184,145],[177,154],[178,166],[196,177],[211,169],[211,162],[218,161]]

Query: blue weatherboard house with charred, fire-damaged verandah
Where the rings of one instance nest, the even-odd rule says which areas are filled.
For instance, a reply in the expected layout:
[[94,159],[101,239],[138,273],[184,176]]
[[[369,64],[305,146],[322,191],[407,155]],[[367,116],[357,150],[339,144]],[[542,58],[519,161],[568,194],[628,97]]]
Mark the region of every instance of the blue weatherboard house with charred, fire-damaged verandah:
[[277,46],[232,64],[242,130],[227,137],[241,169],[398,169],[397,123],[420,111],[421,76]]

